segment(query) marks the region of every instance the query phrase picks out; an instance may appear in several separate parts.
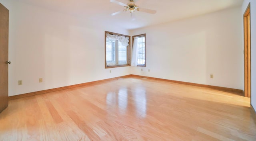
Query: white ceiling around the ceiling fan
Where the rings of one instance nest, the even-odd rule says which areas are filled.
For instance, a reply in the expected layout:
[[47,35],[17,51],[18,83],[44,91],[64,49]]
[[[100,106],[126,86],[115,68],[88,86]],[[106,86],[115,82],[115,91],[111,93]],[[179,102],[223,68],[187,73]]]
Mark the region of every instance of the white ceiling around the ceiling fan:
[[[70,14],[95,22],[97,24],[112,23],[124,29],[136,29],[144,26],[165,23],[189,18],[210,12],[241,6],[243,0],[135,0],[141,8],[156,10],[156,14],[134,12],[136,20],[132,20],[129,12],[111,16],[124,7],[110,0],[18,0],[34,6]],[[129,0],[118,0],[127,4]]]

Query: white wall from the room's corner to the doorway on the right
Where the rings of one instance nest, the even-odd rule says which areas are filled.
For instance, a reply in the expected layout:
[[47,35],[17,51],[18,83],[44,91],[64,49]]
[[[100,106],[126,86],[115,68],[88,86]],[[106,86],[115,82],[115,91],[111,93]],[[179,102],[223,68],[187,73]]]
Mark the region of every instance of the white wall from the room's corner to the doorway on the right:
[[240,13],[232,8],[132,30],[131,35],[146,33],[147,59],[146,68],[132,67],[132,74],[242,90]]

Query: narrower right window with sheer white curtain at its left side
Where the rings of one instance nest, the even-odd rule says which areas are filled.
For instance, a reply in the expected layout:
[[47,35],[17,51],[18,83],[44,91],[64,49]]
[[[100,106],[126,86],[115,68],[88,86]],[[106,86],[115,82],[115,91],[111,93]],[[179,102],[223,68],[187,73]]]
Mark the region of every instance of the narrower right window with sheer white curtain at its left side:
[[146,34],[132,36],[132,66],[146,67]]

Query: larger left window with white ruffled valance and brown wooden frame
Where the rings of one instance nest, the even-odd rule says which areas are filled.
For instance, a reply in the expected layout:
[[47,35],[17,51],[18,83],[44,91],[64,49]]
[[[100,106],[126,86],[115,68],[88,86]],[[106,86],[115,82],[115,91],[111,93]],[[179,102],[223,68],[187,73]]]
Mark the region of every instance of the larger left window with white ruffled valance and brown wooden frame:
[[105,31],[105,68],[130,66],[130,36]]

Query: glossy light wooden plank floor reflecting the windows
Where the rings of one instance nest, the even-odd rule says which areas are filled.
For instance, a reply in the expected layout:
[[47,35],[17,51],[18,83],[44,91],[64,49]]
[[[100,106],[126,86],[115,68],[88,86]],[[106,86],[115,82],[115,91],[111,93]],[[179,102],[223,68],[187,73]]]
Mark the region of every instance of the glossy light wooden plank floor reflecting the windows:
[[124,78],[10,100],[0,141],[256,141],[250,99]]

